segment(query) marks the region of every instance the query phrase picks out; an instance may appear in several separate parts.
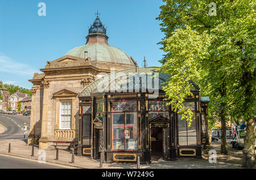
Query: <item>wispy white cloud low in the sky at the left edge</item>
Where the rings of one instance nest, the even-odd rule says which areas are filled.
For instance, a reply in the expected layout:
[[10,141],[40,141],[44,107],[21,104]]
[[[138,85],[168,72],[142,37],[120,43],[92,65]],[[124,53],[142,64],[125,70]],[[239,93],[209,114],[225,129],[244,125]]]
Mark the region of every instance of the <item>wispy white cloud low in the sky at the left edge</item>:
[[35,70],[33,67],[25,63],[14,61],[0,52],[0,72],[7,72],[21,76],[33,76],[34,72],[38,72],[38,70]]

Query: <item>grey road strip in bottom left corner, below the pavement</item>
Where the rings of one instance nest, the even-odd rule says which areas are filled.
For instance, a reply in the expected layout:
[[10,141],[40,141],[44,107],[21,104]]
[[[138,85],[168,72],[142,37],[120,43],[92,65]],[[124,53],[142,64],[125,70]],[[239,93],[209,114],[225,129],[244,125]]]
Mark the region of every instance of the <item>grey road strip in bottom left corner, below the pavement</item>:
[[0,169],[63,169],[63,166],[55,166],[36,162],[36,160],[24,160],[23,158],[0,155]]

